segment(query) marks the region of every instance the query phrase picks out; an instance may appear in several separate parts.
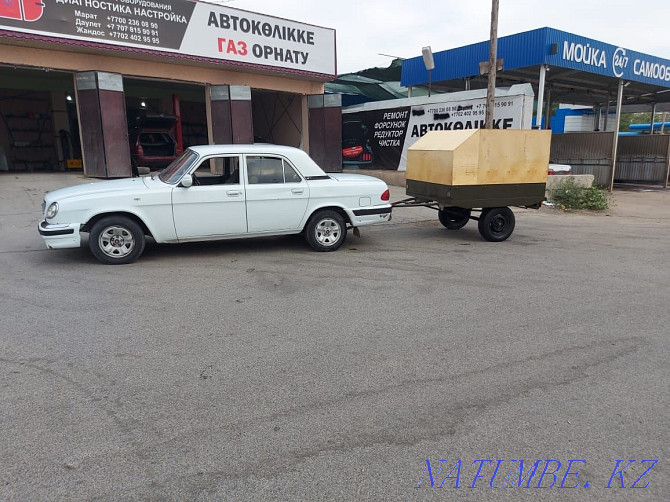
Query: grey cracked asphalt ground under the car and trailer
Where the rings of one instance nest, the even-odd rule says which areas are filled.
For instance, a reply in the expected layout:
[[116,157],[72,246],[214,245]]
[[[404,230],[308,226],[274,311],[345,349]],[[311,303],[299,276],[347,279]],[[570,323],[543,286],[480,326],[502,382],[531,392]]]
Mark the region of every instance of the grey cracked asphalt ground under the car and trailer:
[[670,497],[669,192],[114,267],[37,234],[84,181],[0,176],[0,500]]

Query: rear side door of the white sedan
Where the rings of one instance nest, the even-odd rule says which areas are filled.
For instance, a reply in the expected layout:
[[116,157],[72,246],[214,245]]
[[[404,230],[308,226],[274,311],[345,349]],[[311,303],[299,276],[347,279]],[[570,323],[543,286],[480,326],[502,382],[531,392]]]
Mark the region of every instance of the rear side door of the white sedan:
[[284,158],[245,155],[247,222],[250,233],[299,230],[309,186]]

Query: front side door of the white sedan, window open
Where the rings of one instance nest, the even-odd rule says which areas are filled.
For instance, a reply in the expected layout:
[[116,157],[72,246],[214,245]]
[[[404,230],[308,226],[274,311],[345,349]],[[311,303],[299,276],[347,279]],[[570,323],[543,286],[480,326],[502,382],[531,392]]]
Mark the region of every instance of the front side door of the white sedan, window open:
[[193,185],[172,190],[172,215],[179,240],[247,233],[239,155],[205,158],[191,171]]

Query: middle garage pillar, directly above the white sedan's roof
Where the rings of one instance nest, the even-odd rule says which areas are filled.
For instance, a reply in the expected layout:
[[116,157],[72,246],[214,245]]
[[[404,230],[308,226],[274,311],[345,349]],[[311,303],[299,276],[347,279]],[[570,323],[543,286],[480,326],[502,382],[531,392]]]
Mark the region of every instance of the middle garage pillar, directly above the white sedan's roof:
[[251,88],[246,85],[215,85],[209,88],[209,92],[213,143],[253,143]]

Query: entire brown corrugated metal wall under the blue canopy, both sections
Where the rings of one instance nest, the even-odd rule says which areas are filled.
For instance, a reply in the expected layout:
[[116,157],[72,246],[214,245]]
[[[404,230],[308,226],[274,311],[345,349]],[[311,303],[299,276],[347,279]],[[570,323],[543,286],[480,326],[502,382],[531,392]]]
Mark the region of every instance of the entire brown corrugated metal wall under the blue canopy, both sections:
[[[613,134],[554,134],[551,138],[551,161],[570,164],[574,174],[593,174],[597,185],[609,186]],[[669,154],[670,135],[621,136],[614,180],[618,183],[664,184]]]

